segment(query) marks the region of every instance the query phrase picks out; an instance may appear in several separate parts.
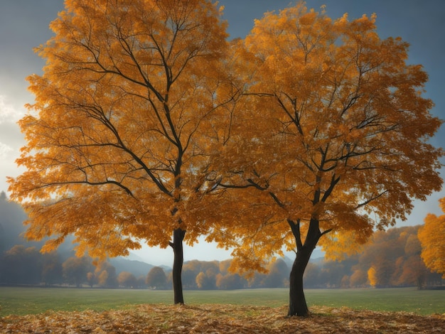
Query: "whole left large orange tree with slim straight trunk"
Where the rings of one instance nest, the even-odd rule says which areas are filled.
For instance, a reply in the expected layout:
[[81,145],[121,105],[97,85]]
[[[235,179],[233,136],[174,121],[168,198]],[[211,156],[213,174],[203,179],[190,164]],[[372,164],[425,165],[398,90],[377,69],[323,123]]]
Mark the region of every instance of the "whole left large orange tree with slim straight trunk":
[[[66,1],[37,48],[43,75],[19,122],[27,144],[10,178],[30,239],[74,234],[77,254],[115,257],[171,246],[183,303],[183,240],[206,232],[194,201],[213,190],[211,142],[225,136],[225,22],[205,0]],[[202,205],[202,203],[200,203]],[[186,236],[186,232],[187,236]],[[171,236],[173,239],[171,240]]]

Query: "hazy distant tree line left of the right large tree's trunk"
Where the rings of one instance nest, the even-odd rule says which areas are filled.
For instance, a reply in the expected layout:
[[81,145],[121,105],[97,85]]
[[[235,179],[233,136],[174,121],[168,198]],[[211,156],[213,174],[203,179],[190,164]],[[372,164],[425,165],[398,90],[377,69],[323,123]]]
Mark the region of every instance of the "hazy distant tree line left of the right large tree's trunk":
[[[268,274],[257,274],[250,281],[230,273],[230,262],[186,262],[183,267],[184,288],[210,290],[286,286],[289,270],[282,259],[269,264]],[[172,289],[172,273],[171,269],[154,266],[145,276],[136,276],[129,271],[117,272],[108,261],[96,263],[90,257],[63,260],[57,251],[42,254],[36,247],[18,244],[1,254],[0,284]]]

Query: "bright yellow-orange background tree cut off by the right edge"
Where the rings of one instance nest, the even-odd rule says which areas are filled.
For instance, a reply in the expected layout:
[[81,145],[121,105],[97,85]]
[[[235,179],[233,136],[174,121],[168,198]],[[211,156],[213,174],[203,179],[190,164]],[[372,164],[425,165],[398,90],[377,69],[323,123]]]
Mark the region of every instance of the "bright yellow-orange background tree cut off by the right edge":
[[[445,198],[441,198],[439,203],[441,210],[445,212]],[[421,256],[425,265],[445,278],[445,215],[427,215],[425,225],[419,228],[418,237],[422,244]]]

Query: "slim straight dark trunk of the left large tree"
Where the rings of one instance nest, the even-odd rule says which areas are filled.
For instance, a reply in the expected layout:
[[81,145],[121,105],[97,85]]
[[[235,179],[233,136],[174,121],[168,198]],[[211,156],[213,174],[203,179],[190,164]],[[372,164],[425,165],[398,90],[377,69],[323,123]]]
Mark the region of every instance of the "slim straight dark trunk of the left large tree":
[[173,242],[170,243],[173,248],[173,294],[174,303],[183,304],[184,297],[182,291],[182,266],[184,262],[183,256],[183,239],[186,235],[186,231],[181,228],[177,228],[173,231]]

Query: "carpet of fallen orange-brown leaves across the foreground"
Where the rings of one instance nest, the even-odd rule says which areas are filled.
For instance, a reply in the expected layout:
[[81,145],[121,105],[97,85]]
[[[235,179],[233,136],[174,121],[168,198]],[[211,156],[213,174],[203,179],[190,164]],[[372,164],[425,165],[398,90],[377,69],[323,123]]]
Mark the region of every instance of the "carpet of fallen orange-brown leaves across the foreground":
[[46,312],[0,318],[0,333],[442,333],[445,315],[312,307],[309,318],[286,308],[147,304],[119,311]]

